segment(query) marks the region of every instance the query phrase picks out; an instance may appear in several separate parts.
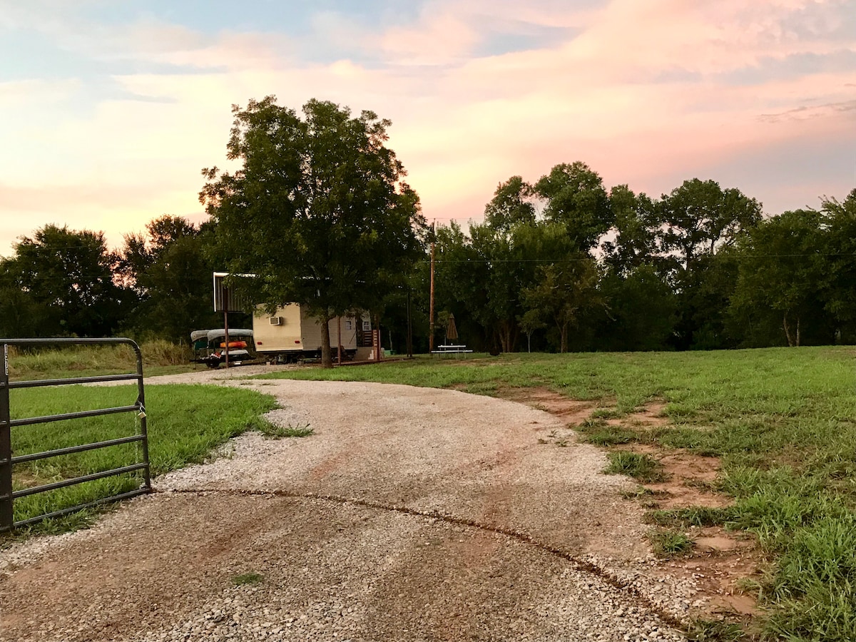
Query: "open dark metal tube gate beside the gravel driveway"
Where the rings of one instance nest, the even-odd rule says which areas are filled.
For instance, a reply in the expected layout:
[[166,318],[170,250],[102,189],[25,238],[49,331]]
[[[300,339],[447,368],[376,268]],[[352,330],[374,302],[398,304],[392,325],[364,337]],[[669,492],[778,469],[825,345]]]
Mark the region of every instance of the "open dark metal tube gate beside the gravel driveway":
[[[38,381],[9,381],[9,346],[46,346],[46,345],[104,345],[104,344],[126,344],[134,348],[134,353],[137,356],[137,372],[132,374],[120,375],[104,375],[98,377],[76,377],[71,379],[43,379]],[[143,357],[140,353],[140,347],[130,339],[0,339],[0,532],[10,531],[13,528],[27,526],[39,520],[45,520],[49,517],[59,517],[64,514],[72,513],[81,508],[90,508],[105,502],[115,502],[116,500],[125,499],[141,495],[152,491],[152,478],[149,469],[149,447],[148,437],[146,434],[146,396],[143,390]],[[137,401],[131,406],[120,406],[111,408],[100,408],[96,410],[84,410],[75,413],[52,414],[44,417],[30,417],[27,419],[11,419],[9,408],[9,390],[15,388],[40,388],[45,386],[61,386],[73,383],[96,383],[103,381],[136,381],[137,382]],[[32,453],[28,455],[13,456],[12,453],[12,429],[20,426],[45,424],[51,421],[61,421],[62,419],[85,419],[86,417],[96,417],[102,414],[115,413],[137,413],[140,417],[140,429],[133,435],[127,437],[119,437],[96,443],[83,443],[68,448],[47,450],[41,453]],[[56,457],[57,455],[68,455],[70,453],[80,453],[85,450],[93,450],[99,448],[108,448],[120,443],[139,442],[140,448],[138,459],[133,464],[114,468],[112,470],[99,471],[76,477],[74,479],[62,479],[51,484],[43,484],[21,490],[12,490],[12,467],[15,464],[23,464],[27,461],[38,461],[47,459],[48,457]],[[35,495],[37,493],[46,492],[48,490],[56,490],[74,484],[82,484],[84,482],[93,481],[95,479],[104,479],[112,475],[120,475],[122,473],[133,473],[134,471],[142,471],[143,481],[140,488],[123,492],[118,495],[99,498],[93,502],[86,502],[55,510],[51,513],[41,514],[37,517],[32,517],[27,520],[15,521],[13,514],[13,502],[20,497]]]

